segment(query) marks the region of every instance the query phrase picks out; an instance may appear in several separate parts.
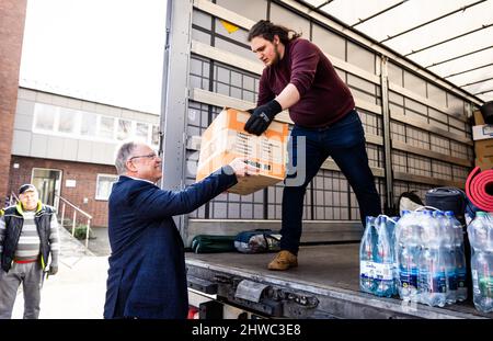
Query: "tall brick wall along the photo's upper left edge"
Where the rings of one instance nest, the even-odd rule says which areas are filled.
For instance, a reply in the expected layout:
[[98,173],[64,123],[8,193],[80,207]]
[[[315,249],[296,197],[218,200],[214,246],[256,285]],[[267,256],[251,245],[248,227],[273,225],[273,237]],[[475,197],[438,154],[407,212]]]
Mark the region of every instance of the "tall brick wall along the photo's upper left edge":
[[[9,178],[26,0],[0,1],[0,174]],[[0,181],[0,197],[8,193]]]

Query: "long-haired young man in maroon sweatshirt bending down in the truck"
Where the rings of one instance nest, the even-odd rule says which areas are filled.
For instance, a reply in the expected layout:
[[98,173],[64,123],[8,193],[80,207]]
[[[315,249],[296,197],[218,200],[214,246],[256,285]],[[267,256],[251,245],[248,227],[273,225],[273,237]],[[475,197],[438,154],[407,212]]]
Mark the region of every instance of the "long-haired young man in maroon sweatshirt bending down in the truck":
[[365,133],[353,95],[325,55],[293,30],[265,20],[252,26],[248,39],[265,68],[257,107],[250,111],[244,129],[261,135],[286,109],[295,123],[283,192],[282,251],[268,264],[270,270],[287,270],[298,265],[307,185],[328,157],[353,187],[363,224],[366,216],[380,214],[380,196],[368,166]]

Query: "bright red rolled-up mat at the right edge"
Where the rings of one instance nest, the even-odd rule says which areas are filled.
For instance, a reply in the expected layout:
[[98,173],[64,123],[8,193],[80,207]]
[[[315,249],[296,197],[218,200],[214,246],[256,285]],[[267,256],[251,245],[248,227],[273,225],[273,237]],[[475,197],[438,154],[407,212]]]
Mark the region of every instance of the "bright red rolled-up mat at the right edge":
[[493,170],[481,171],[474,168],[466,181],[466,194],[469,200],[479,208],[493,212],[493,195],[486,193],[493,191]]

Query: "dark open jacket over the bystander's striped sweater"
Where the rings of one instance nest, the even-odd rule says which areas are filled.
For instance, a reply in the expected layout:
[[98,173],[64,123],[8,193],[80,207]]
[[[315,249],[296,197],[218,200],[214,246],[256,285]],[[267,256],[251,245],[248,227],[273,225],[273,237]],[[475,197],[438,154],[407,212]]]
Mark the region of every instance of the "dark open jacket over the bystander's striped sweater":
[[[51,216],[54,214],[55,209],[53,207],[43,205],[39,202],[34,216],[34,221],[39,235],[39,261],[43,269],[46,268],[50,252],[49,231],[51,228]],[[21,237],[22,226],[24,224],[21,204],[5,208],[3,219],[5,221],[5,236],[3,239],[3,252],[1,253],[1,266],[3,271],[9,272],[12,266],[19,238]]]

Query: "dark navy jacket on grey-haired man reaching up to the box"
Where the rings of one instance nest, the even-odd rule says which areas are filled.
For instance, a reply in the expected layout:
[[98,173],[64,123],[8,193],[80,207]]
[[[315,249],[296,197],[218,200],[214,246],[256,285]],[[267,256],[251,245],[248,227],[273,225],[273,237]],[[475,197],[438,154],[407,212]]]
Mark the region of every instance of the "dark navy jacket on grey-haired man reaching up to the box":
[[128,177],[113,185],[108,206],[112,254],[104,318],[186,318],[182,238],[172,216],[198,208],[237,183],[228,166],[183,191],[163,191]]

